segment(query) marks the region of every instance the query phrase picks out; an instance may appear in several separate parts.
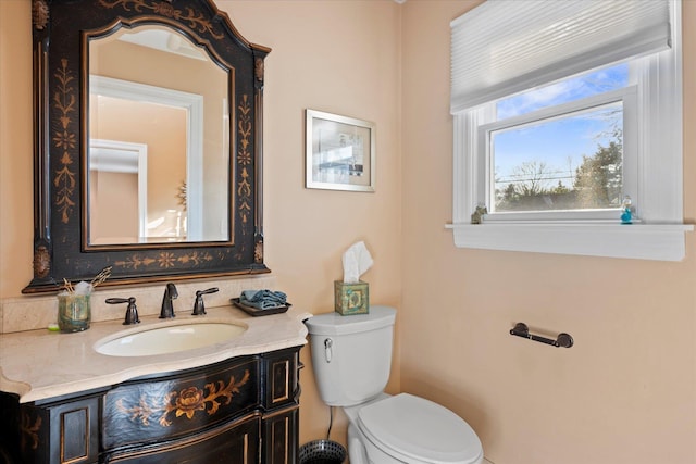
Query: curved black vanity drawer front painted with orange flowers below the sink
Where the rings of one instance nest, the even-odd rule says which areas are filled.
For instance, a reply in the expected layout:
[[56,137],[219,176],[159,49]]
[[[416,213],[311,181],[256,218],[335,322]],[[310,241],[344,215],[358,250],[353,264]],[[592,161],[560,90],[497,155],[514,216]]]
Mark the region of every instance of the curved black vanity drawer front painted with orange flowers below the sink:
[[144,378],[104,396],[102,447],[172,439],[240,417],[260,402],[256,356],[238,358],[186,376]]

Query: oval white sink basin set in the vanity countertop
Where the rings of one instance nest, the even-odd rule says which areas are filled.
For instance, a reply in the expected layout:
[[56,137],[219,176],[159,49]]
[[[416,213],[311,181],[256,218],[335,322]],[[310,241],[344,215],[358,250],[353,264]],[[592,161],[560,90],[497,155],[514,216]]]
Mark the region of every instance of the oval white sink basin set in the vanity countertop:
[[246,327],[227,323],[188,323],[107,337],[95,344],[109,356],[150,356],[209,347],[239,337]]

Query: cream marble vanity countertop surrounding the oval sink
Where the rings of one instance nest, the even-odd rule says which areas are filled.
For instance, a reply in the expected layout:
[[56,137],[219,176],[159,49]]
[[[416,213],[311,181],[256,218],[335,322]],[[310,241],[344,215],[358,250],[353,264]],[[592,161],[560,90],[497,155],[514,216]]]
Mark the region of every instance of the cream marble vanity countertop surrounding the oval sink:
[[[125,306],[124,306],[125,309]],[[234,306],[206,308],[207,315],[179,312],[173,319],[140,316],[140,324],[123,319],[92,323],[88,330],[60,334],[48,329],[0,335],[0,391],[16,393],[20,402],[44,400],[105,387],[142,375],[213,364],[307,343],[302,321],[311,314],[290,308],[286,313],[252,317]],[[120,331],[141,331],[184,322],[227,322],[247,327],[239,337],[204,348],[149,356],[99,354],[95,344]]]

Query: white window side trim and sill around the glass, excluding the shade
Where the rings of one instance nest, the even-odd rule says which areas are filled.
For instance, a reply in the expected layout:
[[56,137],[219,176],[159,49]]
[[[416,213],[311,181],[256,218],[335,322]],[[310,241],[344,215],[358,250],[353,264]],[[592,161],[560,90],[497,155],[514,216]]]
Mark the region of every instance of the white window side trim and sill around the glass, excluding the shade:
[[[631,197],[641,221],[622,225],[619,214],[613,218],[527,214],[520,221],[484,216],[482,224],[472,224],[471,216],[481,204],[481,189],[485,188],[481,183],[486,179],[478,130],[495,117],[494,105],[484,104],[453,114],[453,211],[452,223],[446,227],[452,229],[458,248],[684,259],[685,233],[692,231],[693,225],[683,224],[681,2],[672,4],[672,48],[636,59],[641,65],[632,70],[637,77],[632,103],[637,120],[629,123],[634,134],[625,133],[624,108],[624,153],[636,153],[630,166],[635,172],[624,174],[624,179],[634,176],[635,185],[624,185],[624,189],[629,195],[634,192]],[[627,117],[634,117],[632,114]]]

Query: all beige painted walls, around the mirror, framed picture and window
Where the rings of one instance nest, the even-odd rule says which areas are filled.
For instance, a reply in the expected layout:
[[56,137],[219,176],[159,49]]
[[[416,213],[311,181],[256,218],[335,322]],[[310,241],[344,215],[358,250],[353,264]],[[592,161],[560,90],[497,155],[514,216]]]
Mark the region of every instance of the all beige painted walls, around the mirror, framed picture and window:
[[[278,288],[332,310],[340,254],[366,241],[373,302],[399,308],[389,386],[465,417],[496,464],[696,462],[696,260],[659,263],[456,249],[449,22],[467,0],[220,0],[266,60],[265,244]],[[685,2],[685,217],[696,202],[696,4]],[[28,0],[0,1],[0,297],[32,277]],[[9,39],[11,38],[11,39]],[[303,110],[377,124],[375,193],[303,188]],[[159,291],[159,289],[158,289]],[[510,337],[568,331],[569,350]],[[400,356],[399,356],[400,353]],[[301,442],[328,411],[301,373]],[[332,438],[345,440],[338,416]]]

